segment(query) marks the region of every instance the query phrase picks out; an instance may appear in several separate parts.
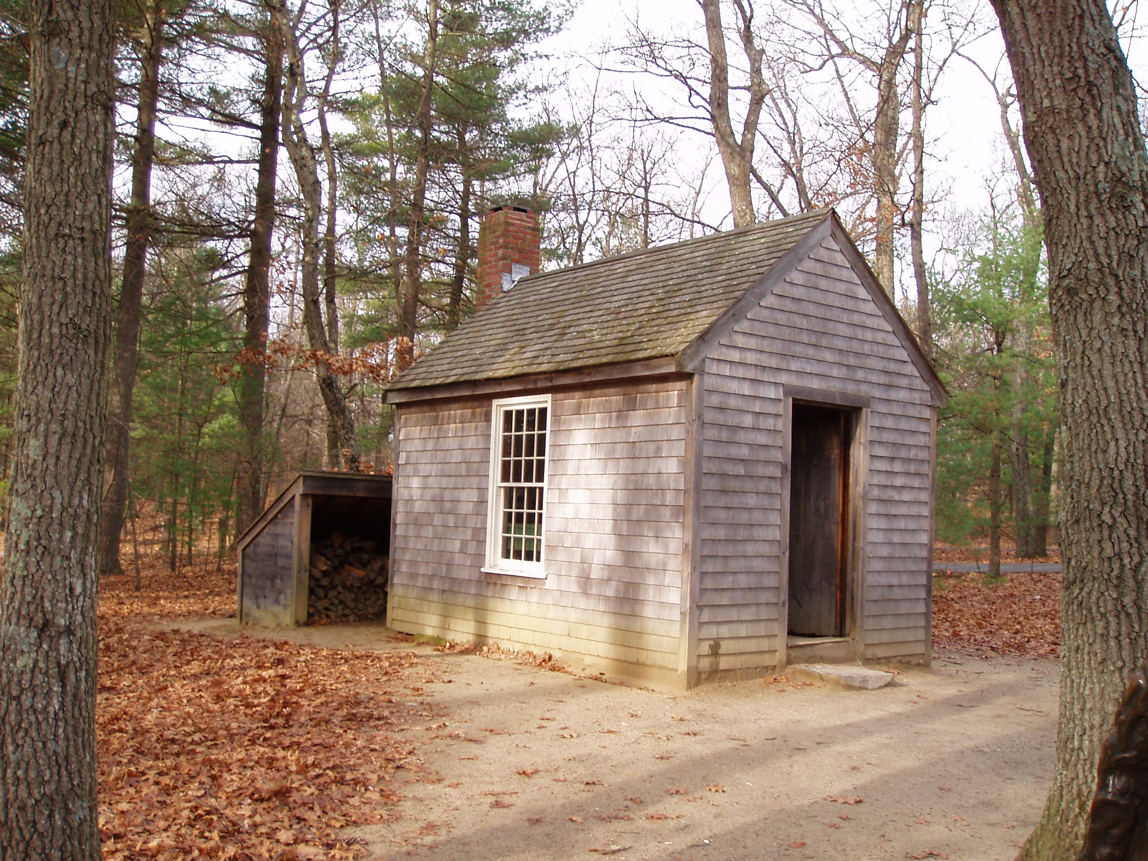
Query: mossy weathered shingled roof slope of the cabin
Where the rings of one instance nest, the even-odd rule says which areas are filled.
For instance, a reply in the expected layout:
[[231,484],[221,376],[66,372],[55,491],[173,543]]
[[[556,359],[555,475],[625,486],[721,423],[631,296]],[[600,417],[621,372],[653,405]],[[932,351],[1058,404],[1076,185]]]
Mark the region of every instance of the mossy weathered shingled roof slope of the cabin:
[[676,356],[829,217],[822,209],[528,276],[388,388]]

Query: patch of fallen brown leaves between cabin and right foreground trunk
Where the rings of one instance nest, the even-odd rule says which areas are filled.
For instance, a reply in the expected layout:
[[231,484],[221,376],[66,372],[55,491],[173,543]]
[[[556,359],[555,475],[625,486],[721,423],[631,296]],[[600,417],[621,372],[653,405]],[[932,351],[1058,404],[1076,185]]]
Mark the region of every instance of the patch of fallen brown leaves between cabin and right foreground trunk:
[[1061,575],[982,574],[934,580],[933,644],[980,654],[1055,656],[1061,644]]

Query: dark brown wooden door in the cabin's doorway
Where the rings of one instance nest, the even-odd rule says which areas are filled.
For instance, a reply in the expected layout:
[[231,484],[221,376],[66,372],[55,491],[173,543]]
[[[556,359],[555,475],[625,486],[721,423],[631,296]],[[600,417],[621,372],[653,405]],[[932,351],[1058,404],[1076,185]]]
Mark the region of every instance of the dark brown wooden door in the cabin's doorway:
[[790,472],[789,633],[845,633],[848,482],[846,410],[793,404]]

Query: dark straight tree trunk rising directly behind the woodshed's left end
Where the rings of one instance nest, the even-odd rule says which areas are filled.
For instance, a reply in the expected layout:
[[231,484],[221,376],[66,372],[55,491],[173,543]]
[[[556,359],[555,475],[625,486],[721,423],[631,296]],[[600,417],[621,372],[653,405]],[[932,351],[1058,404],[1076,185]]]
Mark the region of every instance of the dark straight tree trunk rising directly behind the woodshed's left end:
[[264,389],[267,328],[271,319],[271,239],[276,226],[276,171],[279,163],[279,115],[282,110],[284,44],[278,3],[269,3],[259,115],[259,164],[255,181],[255,220],[251,224],[247,280],[243,285],[242,373],[239,378],[239,420],[243,449],[238,467],[239,522],[242,533],[263,511]]

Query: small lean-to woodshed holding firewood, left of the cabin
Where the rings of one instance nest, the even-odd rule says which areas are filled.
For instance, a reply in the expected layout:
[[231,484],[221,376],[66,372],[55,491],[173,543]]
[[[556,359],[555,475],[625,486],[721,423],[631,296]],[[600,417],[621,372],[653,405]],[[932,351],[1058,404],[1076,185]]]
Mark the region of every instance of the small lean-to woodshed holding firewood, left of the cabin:
[[389,475],[301,472],[236,542],[239,621],[381,616],[389,522]]

